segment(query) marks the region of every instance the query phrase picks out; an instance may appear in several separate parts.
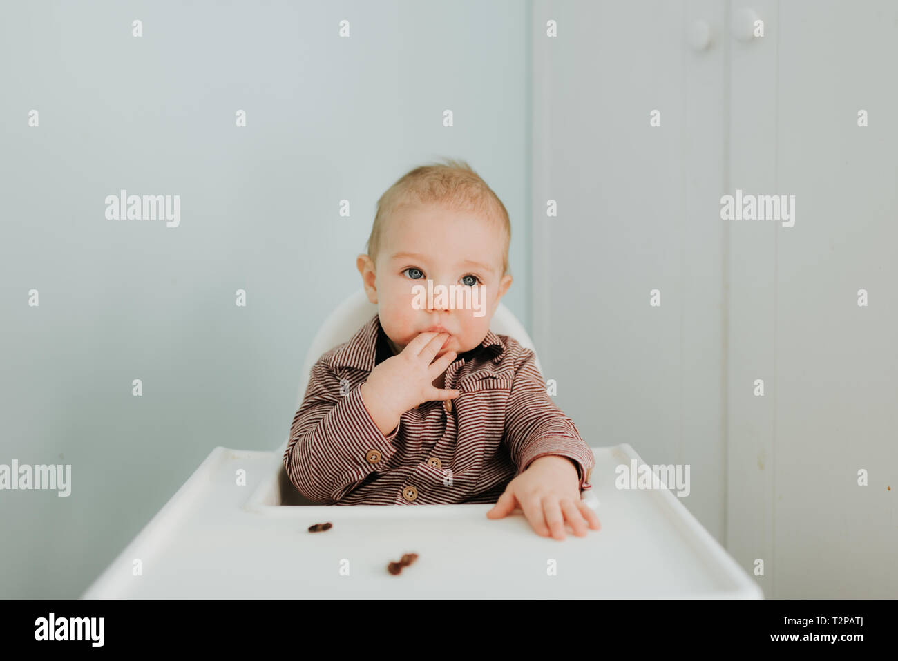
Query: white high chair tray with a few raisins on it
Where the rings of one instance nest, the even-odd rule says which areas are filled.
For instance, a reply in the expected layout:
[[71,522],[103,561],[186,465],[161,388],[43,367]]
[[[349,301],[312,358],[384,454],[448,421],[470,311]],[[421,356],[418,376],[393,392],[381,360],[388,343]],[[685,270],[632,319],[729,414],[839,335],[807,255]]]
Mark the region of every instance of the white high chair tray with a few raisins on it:
[[763,597],[670,490],[615,488],[629,445],[593,451],[602,529],[558,541],[492,505],[282,505],[278,453],[216,447],[83,598]]

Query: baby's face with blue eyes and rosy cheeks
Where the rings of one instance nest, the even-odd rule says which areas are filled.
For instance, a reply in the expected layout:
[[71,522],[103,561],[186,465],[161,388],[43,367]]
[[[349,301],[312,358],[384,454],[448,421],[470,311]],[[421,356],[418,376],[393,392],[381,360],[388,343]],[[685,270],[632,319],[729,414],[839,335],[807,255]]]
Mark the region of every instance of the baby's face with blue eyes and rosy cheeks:
[[[437,356],[446,351],[460,354],[480,345],[512,281],[511,276],[502,275],[505,236],[497,224],[472,212],[416,204],[396,209],[382,238],[374,273],[366,255],[359,256],[358,267],[393,351],[400,353],[418,334],[436,326],[451,336]],[[433,280],[432,302],[413,290],[420,285],[426,291],[428,279]],[[456,298],[458,307],[470,300],[469,309],[453,310],[448,301],[437,300],[439,285],[445,286],[447,294],[452,285],[483,287],[476,294],[471,291],[470,298]],[[456,290],[462,291],[461,287]],[[416,309],[416,300],[423,307]]]

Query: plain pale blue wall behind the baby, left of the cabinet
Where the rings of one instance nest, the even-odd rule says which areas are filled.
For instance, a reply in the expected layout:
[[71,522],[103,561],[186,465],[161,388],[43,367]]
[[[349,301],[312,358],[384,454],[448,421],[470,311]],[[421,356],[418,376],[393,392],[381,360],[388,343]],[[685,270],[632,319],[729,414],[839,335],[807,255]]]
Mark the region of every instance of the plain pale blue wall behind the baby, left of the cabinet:
[[[80,595],[215,445],[284,441],[305,349],[361,286],[376,199],[410,167],[466,159],[503,199],[505,303],[530,327],[529,17],[515,0],[4,7],[0,463],[70,463],[73,484],[0,492],[0,596]],[[106,220],[119,189],[180,195],[180,226]]]

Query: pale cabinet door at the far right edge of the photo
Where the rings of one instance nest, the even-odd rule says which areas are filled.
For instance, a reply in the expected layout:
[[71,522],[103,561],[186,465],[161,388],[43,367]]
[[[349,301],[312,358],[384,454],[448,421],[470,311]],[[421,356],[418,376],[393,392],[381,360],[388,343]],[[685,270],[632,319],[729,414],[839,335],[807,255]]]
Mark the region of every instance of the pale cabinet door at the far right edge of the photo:
[[726,224],[727,548],[768,596],[894,598],[898,5],[743,8],[765,34],[730,43],[727,192],[796,204]]

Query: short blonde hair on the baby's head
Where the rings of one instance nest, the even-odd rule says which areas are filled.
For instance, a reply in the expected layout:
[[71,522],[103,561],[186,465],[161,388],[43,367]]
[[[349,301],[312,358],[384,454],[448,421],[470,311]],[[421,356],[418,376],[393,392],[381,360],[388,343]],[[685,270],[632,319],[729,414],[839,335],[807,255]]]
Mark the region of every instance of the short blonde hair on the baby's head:
[[383,228],[387,219],[399,207],[414,204],[439,204],[456,211],[469,211],[498,223],[505,234],[502,250],[502,273],[508,272],[508,244],[511,242],[511,222],[506,207],[486,181],[464,161],[444,159],[445,163],[429,163],[403,174],[380,199],[377,213],[365,250],[377,261],[381,249]]

